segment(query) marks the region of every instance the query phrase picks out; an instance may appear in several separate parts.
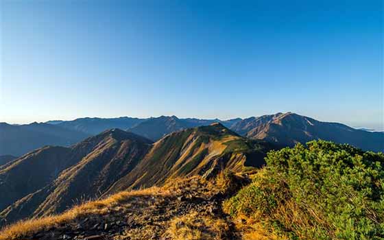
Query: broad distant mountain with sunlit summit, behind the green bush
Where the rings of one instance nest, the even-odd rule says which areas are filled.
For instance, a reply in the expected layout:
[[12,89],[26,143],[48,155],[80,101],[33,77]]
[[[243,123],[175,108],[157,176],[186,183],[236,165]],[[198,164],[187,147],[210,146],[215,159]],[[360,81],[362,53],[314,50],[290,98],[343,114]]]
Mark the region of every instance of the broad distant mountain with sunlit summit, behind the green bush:
[[243,119],[231,130],[250,139],[293,146],[315,139],[348,143],[364,150],[384,151],[384,134],[350,128],[341,123],[317,121],[292,112]]

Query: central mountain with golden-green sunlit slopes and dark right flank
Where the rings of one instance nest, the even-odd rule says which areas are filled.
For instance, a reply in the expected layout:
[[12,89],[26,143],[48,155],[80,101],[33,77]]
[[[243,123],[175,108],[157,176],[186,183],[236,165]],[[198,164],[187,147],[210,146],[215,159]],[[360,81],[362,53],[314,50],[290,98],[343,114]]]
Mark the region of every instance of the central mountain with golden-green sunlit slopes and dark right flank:
[[220,123],[173,132],[154,143],[143,160],[108,193],[184,176],[215,176],[222,169],[261,167],[265,152],[271,148],[270,144],[244,139]]

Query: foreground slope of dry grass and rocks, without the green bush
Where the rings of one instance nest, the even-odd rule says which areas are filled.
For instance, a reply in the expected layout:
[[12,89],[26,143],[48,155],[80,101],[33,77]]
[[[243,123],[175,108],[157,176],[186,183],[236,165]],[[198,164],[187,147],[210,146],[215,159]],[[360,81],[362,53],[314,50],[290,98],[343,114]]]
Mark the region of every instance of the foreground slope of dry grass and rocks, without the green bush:
[[221,202],[245,182],[223,174],[122,191],[62,215],[21,221],[0,232],[0,239],[238,239]]

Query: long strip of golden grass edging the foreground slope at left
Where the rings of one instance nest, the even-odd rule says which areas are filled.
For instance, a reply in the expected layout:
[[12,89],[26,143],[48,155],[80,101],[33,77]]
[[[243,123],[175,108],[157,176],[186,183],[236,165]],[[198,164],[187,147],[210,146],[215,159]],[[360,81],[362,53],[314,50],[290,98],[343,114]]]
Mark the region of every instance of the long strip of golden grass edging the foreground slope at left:
[[115,195],[111,195],[104,200],[90,201],[75,206],[69,211],[61,215],[52,215],[36,219],[28,219],[25,221],[16,222],[11,226],[3,228],[0,232],[0,240],[10,240],[26,235],[34,234],[40,230],[46,230],[52,226],[69,222],[78,217],[84,217],[91,214],[104,214],[109,208],[117,206],[123,202],[130,200],[132,197],[140,197],[144,195],[169,195],[169,191],[152,187],[138,191],[122,191]]

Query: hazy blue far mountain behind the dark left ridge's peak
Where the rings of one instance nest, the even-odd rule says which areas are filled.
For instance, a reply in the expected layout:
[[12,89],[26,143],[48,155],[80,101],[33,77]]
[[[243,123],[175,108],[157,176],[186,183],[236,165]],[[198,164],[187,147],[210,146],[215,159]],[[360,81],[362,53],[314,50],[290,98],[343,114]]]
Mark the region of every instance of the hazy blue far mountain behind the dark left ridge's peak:
[[[95,135],[112,128],[132,128],[134,125],[139,124],[142,121],[145,121],[145,119],[138,119],[133,117],[117,117],[110,119],[103,119],[99,117],[84,117],[75,119],[73,121],[62,121],[60,123],[53,121],[53,124],[69,130],[76,130],[86,134]],[[47,123],[52,122],[48,121]]]

